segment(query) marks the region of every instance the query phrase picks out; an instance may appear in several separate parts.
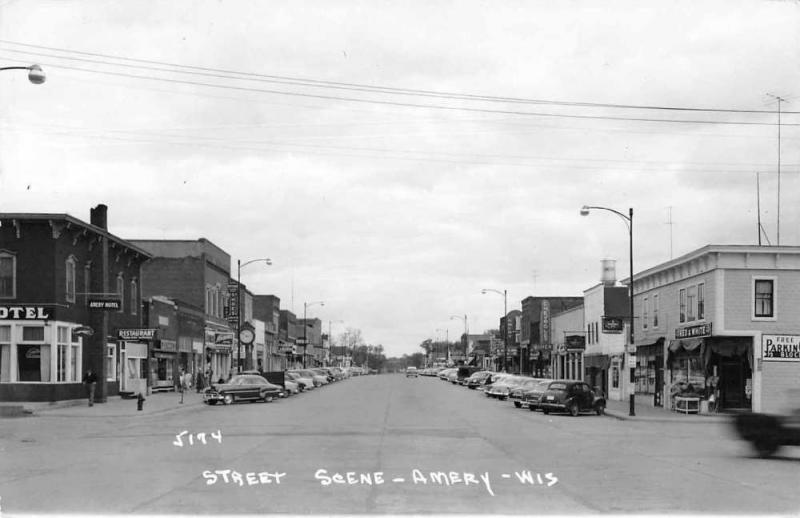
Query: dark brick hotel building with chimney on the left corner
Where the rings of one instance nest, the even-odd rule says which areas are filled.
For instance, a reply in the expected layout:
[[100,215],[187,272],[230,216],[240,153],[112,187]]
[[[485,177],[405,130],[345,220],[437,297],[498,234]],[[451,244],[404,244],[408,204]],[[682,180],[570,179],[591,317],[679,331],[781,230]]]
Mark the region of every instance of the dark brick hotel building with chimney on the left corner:
[[142,363],[125,358],[146,344],[125,332],[141,326],[140,268],[150,254],[107,223],[105,205],[90,223],[0,214],[0,400],[85,397],[92,369],[103,402],[124,380],[144,378]]

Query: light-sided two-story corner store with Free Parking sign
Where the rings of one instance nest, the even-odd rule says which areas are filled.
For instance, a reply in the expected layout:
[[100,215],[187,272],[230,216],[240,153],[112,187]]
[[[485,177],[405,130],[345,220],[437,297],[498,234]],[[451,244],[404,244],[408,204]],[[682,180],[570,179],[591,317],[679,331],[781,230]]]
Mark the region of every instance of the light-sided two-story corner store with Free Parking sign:
[[666,402],[797,407],[800,247],[707,245],[634,275],[634,305],[638,388],[649,390],[660,352]]

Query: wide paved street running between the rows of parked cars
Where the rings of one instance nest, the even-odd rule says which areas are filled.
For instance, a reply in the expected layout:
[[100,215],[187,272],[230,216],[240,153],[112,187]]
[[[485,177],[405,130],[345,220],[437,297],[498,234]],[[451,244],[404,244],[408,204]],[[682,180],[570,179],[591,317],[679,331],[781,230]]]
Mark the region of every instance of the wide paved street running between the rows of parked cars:
[[798,450],[754,458],[723,421],[545,416],[402,375],[268,404],[119,403],[0,422],[4,515],[800,511]]

